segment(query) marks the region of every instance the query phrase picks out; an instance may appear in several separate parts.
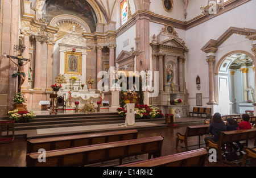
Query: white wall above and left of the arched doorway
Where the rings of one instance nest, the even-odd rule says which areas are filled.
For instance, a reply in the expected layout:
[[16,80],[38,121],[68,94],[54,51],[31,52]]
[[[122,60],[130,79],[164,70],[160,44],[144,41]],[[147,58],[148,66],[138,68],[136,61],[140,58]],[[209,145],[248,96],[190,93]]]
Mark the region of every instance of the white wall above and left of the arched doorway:
[[[214,17],[196,27],[186,31],[186,45],[189,49],[186,60],[186,77],[190,110],[196,105],[196,93],[203,94],[203,107],[207,107],[206,102],[209,101],[209,84],[208,84],[208,64],[206,53],[201,51],[201,48],[210,40],[217,40],[229,27],[238,28],[253,28],[256,29],[256,1],[249,1],[241,6],[236,7],[224,14]],[[251,53],[251,41],[246,39],[244,35],[233,34],[223,44],[220,45],[216,52],[216,61],[214,62],[214,69],[218,60],[226,53],[234,50],[245,50]],[[213,69],[213,70],[214,70]],[[201,90],[196,89],[196,76],[201,78]],[[217,92],[217,78],[214,77],[214,90]],[[218,92],[217,92],[218,94]]]

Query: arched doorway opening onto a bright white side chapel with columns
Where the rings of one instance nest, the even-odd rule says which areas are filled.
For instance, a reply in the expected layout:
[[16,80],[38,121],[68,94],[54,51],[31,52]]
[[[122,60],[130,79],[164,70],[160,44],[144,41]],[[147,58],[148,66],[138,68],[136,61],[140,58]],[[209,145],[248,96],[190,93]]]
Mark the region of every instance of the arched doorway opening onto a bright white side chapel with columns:
[[253,110],[255,101],[254,57],[246,51],[224,55],[216,66],[218,107],[221,114]]

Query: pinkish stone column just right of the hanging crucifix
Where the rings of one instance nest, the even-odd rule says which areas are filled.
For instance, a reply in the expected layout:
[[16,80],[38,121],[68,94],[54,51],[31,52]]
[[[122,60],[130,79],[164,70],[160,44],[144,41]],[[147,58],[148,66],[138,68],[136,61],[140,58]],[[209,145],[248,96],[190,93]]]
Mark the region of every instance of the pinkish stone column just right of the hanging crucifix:
[[42,55],[42,44],[39,39],[36,39],[34,90],[42,90],[41,88],[41,62],[42,62],[41,55]]

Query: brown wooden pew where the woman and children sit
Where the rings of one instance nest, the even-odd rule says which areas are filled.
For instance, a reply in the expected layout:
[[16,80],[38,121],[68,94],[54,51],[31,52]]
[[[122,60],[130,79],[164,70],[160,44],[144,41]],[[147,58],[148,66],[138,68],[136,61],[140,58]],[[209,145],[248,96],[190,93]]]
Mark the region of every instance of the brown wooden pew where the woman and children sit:
[[220,139],[217,142],[214,142],[211,139],[207,139],[206,142],[207,147],[215,148],[217,150],[217,155],[220,158],[220,162],[223,162],[221,152],[222,145],[232,142],[240,142],[248,139],[255,139],[256,141],[256,128],[246,130],[222,131]]

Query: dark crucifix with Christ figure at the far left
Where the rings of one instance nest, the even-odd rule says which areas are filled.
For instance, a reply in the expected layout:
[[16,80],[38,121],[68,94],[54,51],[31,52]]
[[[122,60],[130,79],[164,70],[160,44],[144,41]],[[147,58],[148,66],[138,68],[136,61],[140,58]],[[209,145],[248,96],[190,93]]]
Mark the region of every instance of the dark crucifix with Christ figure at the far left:
[[[21,86],[24,83],[26,79],[26,74],[24,72],[24,65],[26,65],[30,59],[24,59],[21,55],[18,56],[10,56],[10,55],[4,55],[4,57],[9,57],[11,61],[13,61],[14,64],[18,67],[18,71],[11,75],[11,77],[15,78],[18,76],[18,92],[20,92]],[[16,63],[13,59],[18,59],[18,63]],[[23,63],[23,61],[26,61]]]

